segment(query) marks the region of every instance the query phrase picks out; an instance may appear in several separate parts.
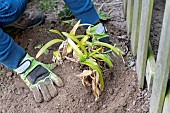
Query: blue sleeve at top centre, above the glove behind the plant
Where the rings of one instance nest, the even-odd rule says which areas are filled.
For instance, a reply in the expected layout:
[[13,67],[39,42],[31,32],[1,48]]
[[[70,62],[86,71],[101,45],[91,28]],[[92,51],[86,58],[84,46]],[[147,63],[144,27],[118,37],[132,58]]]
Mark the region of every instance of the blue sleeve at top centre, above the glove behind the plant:
[[64,0],[64,2],[81,23],[95,24],[99,21],[91,0]]

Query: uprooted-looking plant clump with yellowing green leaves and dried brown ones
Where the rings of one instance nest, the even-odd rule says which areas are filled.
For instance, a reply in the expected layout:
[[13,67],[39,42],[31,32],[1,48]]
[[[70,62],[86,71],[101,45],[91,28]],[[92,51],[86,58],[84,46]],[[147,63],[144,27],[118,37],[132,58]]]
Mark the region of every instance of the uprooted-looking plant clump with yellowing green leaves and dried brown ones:
[[[70,33],[50,30],[53,33],[59,34],[63,39],[53,39],[45,44],[37,53],[38,58],[44,51],[55,43],[62,42],[59,49],[54,51],[53,61],[62,63],[64,59],[77,62],[85,66],[83,72],[77,75],[82,80],[84,86],[92,86],[95,100],[99,98],[101,91],[104,90],[103,72],[101,62],[106,63],[109,67],[113,67],[110,57],[104,53],[104,47],[110,48],[116,55],[122,56],[120,49],[110,44],[99,42],[98,40],[89,41],[90,38],[95,38],[90,33],[90,27],[86,30],[86,35],[76,35],[78,27],[87,25],[80,24],[80,21],[73,27]],[[72,57],[69,57],[71,54]]]

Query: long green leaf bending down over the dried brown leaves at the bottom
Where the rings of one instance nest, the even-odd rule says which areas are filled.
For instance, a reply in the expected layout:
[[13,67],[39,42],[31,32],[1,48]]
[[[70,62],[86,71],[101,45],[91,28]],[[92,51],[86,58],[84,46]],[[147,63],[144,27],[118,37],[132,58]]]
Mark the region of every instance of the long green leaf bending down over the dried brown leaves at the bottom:
[[103,80],[103,73],[99,65],[94,60],[85,60],[84,62],[81,62],[84,65],[89,66],[93,70],[96,70],[99,73],[99,81],[101,85],[101,89],[104,90],[104,80]]

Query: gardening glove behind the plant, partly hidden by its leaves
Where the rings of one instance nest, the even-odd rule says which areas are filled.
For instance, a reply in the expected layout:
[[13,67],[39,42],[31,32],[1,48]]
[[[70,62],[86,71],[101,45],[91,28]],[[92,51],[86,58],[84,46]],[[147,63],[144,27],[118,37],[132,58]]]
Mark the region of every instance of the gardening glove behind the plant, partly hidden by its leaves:
[[[113,45],[109,40],[109,35],[107,34],[107,29],[102,23],[98,23],[90,29],[90,33],[93,35],[92,41],[100,41]],[[108,47],[104,48],[104,53],[108,54],[112,61],[115,60],[115,53]]]

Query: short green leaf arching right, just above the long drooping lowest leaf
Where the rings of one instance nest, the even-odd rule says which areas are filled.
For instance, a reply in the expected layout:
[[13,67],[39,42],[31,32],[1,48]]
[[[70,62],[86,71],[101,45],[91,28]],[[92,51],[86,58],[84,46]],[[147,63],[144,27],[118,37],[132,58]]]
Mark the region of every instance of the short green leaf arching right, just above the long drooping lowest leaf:
[[109,65],[109,67],[113,67],[112,62],[111,62],[110,58],[109,58],[107,55],[94,54],[93,57],[95,57],[95,58],[100,58],[100,59],[102,59],[104,62],[106,62],[106,63]]

